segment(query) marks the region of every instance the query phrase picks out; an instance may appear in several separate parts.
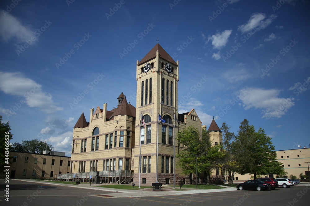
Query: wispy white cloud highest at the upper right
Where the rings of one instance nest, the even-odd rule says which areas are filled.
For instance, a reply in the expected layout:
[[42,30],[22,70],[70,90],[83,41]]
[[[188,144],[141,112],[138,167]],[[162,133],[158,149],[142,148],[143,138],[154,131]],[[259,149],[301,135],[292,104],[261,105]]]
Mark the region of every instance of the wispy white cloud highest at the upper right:
[[269,18],[266,19],[265,14],[255,13],[250,17],[250,20],[246,24],[238,26],[238,31],[240,31],[241,33],[250,32],[252,29],[255,29],[255,31],[259,31],[271,24],[272,21],[276,18],[276,15],[271,15]]

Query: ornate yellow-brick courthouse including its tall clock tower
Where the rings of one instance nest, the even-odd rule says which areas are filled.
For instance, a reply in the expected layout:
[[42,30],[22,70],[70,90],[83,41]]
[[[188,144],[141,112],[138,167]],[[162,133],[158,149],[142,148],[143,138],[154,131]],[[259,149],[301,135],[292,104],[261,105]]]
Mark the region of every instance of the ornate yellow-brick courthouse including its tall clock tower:
[[[70,172],[100,171],[103,182],[106,178],[109,182],[108,175],[112,173],[107,171],[130,170],[133,173],[130,181],[138,184],[141,154],[140,183],[150,184],[156,179],[173,183],[173,162],[177,161],[174,158],[184,149],[173,137],[191,125],[200,131],[206,126],[201,125],[195,109],[178,113],[179,61],[175,62],[159,44],[137,61],[136,81],[136,107],[122,93],[117,98],[117,107],[111,111],[107,110],[107,103],[102,109],[91,108],[89,122],[82,113],[73,129]],[[211,131],[211,140],[214,144],[222,143],[217,125]],[[190,183],[191,178],[175,166],[176,181]],[[117,179],[112,177],[111,181]]]

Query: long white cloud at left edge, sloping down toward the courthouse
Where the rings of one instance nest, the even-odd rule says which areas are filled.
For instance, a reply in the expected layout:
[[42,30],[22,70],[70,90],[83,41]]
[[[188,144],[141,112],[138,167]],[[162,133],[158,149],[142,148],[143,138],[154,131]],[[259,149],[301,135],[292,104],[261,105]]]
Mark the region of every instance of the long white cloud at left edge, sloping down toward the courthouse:
[[42,85],[24,77],[20,72],[3,72],[0,75],[0,90],[22,97],[29,107],[38,107],[46,113],[63,110],[63,107],[55,106],[51,94],[43,92]]

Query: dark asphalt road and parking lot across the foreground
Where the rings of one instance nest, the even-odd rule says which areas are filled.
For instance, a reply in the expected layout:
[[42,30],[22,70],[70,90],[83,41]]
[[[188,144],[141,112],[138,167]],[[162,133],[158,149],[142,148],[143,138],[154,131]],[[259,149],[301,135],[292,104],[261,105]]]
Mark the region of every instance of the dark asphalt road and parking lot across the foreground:
[[310,205],[310,186],[279,187],[273,191],[228,191],[188,195],[111,198],[109,191],[65,187],[10,180],[9,202],[5,201],[6,183],[0,180],[0,205]]

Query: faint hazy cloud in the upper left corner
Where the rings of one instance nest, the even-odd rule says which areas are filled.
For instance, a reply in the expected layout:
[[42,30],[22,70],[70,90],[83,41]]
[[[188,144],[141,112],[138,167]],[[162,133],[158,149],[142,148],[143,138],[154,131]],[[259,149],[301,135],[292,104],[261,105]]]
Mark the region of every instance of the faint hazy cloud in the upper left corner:
[[24,26],[17,18],[11,14],[0,15],[0,36],[4,41],[11,39],[17,43],[30,40],[34,36],[33,31]]

